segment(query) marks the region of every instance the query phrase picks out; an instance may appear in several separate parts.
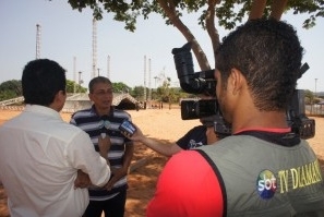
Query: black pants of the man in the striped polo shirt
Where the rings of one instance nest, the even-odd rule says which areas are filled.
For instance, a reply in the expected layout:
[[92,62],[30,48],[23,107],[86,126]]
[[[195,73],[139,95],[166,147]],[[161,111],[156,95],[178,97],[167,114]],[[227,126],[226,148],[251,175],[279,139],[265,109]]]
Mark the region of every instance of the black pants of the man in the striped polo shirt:
[[127,190],[107,201],[89,201],[83,217],[100,217],[105,212],[105,217],[123,217],[127,200]]

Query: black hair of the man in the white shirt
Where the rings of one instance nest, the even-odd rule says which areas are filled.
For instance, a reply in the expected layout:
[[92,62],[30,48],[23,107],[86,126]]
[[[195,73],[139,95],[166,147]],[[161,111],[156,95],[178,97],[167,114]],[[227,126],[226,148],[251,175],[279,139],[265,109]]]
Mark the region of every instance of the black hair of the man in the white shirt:
[[22,75],[25,104],[49,106],[59,91],[65,93],[65,70],[48,59],[33,60]]

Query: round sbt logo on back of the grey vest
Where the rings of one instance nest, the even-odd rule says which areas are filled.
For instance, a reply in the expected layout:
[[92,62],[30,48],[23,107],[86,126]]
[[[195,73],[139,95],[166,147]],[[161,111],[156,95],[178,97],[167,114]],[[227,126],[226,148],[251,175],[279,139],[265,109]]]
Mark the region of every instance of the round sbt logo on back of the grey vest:
[[263,170],[256,180],[256,190],[262,198],[271,198],[277,189],[277,179],[271,170]]

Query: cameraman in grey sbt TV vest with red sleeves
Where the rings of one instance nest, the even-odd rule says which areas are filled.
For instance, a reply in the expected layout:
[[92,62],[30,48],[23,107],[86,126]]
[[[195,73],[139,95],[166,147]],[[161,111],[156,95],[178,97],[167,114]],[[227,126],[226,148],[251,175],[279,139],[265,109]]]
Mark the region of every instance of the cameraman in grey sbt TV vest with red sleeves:
[[216,95],[232,135],[173,155],[147,217],[324,216],[317,157],[286,120],[302,53],[292,26],[275,20],[249,21],[224,38]]

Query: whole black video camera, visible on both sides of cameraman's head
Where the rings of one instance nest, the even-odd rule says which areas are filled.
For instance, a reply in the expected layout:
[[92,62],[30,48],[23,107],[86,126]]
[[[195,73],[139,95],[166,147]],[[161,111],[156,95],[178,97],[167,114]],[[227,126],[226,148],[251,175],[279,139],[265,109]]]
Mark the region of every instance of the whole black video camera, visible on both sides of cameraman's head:
[[[191,55],[191,43],[187,43],[181,48],[172,49],[176,70],[181,88],[190,94],[204,94],[213,96],[213,99],[183,99],[181,100],[182,120],[201,119],[202,122],[214,117],[214,131],[217,134],[230,135],[231,126],[227,123],[220,112],[216,98],[216,80],[215,70],[194,72]],[[304,63],[300,69],[299,79],[309,69]],[[314,137],[315,121],[305,116],[304,109],[304,91],[296,89],[291,103],[287,110],[287,122],[292,133],[303,140]],[[211,121],[208,121],[211,122]]]

